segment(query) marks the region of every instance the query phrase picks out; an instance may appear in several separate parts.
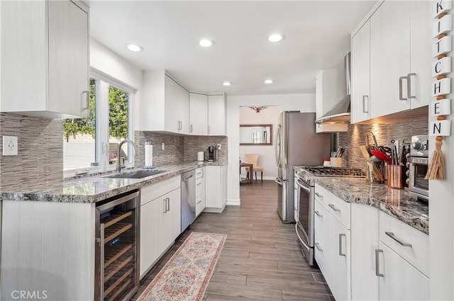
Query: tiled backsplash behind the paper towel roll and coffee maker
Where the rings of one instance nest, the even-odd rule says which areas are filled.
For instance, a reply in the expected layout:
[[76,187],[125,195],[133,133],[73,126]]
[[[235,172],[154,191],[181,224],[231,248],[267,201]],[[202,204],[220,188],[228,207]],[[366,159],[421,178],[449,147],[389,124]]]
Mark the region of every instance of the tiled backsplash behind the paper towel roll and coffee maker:
[[[145,142],[153,145],[153,165],[178,164],[197,160],[197,152],[204,152],[211,144],[221,144],[218,153],[220,160],[227,160],[228,139],[226,136],[180,136],[158,132],[134,132],[134,142],[138,154],[135,155],[135,166],[145,164]],[[162,143],[165,149],[162,150]]]

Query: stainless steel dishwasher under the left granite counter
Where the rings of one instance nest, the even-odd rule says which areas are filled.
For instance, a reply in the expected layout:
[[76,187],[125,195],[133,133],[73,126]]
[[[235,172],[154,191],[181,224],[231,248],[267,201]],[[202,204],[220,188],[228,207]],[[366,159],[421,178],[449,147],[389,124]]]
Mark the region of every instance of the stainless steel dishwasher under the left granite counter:
[[182,232],[196,219],[196,171],[182,174]]

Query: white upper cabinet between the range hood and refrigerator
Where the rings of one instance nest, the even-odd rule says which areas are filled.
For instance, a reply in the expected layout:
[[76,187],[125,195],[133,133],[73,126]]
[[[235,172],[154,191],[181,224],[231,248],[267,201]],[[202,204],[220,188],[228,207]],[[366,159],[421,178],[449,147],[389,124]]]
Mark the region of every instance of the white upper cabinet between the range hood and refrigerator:
[[[345,96],[342,69],[322,70],[315,81],[316,120]],[[316,132],[346,132],[347,123],[316,123]]]

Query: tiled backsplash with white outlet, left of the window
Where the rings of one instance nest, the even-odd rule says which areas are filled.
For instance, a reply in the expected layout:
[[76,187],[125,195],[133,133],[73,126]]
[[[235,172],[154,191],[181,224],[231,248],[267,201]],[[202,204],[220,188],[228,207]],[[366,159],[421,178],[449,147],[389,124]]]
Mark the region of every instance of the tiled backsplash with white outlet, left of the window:
[[62,130],[62,120],[0,113],[0,136],[18,137],[18,156],[0,156],[0,190],[30,190],[62,181]]

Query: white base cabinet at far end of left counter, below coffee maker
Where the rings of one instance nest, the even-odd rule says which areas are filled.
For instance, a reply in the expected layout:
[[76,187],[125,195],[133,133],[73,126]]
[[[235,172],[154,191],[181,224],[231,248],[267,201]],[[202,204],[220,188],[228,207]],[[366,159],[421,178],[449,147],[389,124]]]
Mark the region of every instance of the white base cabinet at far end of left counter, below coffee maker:
[[205,166],[205,212],[222,212],[227,203],[227,166]]

